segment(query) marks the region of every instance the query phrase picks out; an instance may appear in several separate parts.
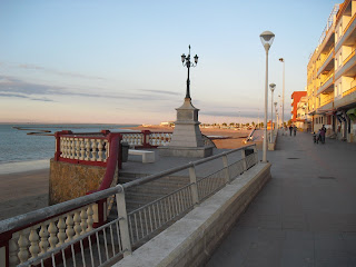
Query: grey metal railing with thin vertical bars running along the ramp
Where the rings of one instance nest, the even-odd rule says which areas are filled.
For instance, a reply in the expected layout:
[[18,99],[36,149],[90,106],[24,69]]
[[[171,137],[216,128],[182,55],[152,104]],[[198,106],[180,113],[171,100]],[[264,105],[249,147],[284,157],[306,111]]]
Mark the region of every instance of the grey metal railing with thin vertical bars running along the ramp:
[[[0,221],[0,250],[8,258],[0,265],[102,266],[117,261],[257,162],[256,145],[250,145]],[[185,186],[127,212],[125,191],[129,188],[178,175],[187,178]],[[92,228],[96,202],[109,197],[116,198],[116,218]]]

